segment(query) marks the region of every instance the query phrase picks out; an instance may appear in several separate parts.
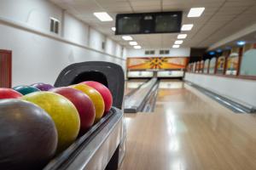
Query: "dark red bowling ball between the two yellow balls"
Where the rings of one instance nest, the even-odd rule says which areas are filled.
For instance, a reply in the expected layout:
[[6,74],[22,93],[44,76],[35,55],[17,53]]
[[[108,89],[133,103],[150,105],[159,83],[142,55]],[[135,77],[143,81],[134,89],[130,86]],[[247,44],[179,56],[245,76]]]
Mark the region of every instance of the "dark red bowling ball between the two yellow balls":
[[80,116],[79,134],[85,133],[93,125],[96,114],[94,105],[88,95],[78,89],[67,87],[53,88],[49,91],[66,97],[77,108]]

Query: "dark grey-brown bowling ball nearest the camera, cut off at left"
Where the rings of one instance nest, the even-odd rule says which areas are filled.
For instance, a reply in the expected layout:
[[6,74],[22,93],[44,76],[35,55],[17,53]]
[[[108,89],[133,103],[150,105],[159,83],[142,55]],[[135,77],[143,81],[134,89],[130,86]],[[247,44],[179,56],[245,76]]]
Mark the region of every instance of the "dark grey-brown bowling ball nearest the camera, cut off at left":
[[55,123],[38,105],[0,100],[0,127],[0,169],[41,169],[55,155]]

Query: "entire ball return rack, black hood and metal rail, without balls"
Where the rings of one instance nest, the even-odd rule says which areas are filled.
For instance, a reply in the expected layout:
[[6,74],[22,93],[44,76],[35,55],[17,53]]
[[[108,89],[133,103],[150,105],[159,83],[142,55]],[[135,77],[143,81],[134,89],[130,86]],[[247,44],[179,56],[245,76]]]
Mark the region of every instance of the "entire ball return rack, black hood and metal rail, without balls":
[[57,78],[55,87],[84,81],[101,82],[113,94],[113,107],[90,130],[67,150],[44,167],[44,170],[114,170],[125,156],[125,122],[122,103],[124,72],[119,65],[90,61],[67,66]]

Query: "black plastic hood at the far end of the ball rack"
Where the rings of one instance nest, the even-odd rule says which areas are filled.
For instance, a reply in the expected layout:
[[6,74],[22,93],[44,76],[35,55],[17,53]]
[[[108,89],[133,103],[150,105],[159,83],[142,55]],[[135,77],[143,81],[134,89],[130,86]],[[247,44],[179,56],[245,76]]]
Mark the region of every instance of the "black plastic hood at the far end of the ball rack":
[[55,87],[84,81],[101,82],[113,95],[113,106],[121,109],[124,98],[125,76],[121,66],[109,62],[88,61],[68,65],[57,78]]

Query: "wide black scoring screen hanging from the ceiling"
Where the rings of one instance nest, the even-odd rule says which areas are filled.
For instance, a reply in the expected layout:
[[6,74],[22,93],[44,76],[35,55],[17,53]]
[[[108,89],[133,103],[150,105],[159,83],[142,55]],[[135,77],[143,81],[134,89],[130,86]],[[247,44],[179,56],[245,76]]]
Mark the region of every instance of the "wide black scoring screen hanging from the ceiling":
[[182,12],[117,14],[116,35],[180,32]]

